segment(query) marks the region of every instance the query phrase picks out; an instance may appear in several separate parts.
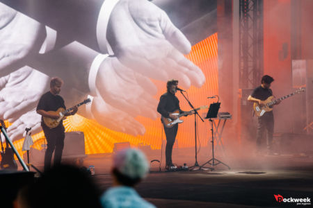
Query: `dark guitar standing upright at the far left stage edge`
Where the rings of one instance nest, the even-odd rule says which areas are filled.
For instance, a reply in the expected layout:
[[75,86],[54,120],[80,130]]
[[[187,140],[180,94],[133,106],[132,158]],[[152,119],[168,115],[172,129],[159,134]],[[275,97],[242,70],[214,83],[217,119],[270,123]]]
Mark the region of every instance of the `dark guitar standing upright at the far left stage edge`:
[[[0,119],[0,123],[2,125],[2,128],[6,130],[6,125],[4,122]],[[1,140],[1,137],[0,137]],[[15,162],[14,159],[14,153],[12,148],[10,148],[8,141],[6,140],[6,149],[3,151],[3,146],[2,146],[2,140],[1,140],[1,168],[8,168],[8,169],[14,169],[17,170],[17,163]]]

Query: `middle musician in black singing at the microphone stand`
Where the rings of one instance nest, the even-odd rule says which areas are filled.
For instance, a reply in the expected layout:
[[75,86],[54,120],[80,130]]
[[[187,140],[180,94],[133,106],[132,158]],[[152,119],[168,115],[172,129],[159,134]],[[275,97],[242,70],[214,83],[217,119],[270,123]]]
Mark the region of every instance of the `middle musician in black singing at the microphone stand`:
[[[179,110],[179,113],[183,113],[179,107],[179,100],[175,96],[177,92],[178,80],[168,80],[166,83],[167,92],[160,97],[159,105],[157,111],[164,117],[170,118],[172,120],[178,119],[177,115],[172,115],[170,112]],[[189,114],[193,114],[190,112]],[[163,123],[164,132],[166,134],[166,168],[170,169],[174,166],[172,164],[172,146],[175,143],[175,138],[178,130],[178,123],[173,125],[171,128],[166,128]]]

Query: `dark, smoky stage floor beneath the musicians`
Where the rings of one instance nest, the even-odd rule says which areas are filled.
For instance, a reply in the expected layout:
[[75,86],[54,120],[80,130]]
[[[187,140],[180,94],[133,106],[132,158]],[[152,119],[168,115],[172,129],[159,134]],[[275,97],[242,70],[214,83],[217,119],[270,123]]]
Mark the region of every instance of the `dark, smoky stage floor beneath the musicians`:
[[[160,150],[145,153],[149,161],[161,159]],[[277,202],[274,194],[284,198],[312,199],[313,155],[227,153],[216,157],[231,169],[218,164],[214,171],[166,173],[164,161],[161,172],[158,172],[159,164],[154,162],[153,173],[136,190],[157,207],[302,207],[295,202]],[[93,177],[102,191],[111,186],[111,159],[112,154],[99,154],[88,155],[83,160],[83,166],[95,166]],[[198,163],[204,164],[209,159],[209,148],[202,148]],[[178,165],[193,166],[194,148],[174,149],[173,161]]]

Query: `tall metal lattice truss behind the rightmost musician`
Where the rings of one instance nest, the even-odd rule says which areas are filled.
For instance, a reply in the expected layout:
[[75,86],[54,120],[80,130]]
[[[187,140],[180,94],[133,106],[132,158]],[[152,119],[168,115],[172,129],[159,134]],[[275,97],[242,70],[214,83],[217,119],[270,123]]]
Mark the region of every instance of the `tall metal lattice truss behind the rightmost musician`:
[[252,89],[263,75],[263,0],[239,0],[239,87]]

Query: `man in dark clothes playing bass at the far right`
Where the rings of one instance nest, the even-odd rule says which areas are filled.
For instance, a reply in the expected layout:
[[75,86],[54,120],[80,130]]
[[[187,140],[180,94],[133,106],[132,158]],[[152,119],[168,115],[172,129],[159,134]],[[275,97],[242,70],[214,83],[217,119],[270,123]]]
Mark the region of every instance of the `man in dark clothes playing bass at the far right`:
[[[266,99],[273,96],[273,92],[270,89],[271,83],[274,79],[271,76],[264,75],[262,77],[262,85],[255,88],[248,97],[248,101],[257,102],[259,106],[266,105]],[[280,101],[277,101],[275,105],[278,105]],[[273,132],[274,132],[274,115],[273,111],[268,111],[257,118],[257,153],[262,153],[262,137],[265,130],[267,130],[267,153],[273,155]]]

